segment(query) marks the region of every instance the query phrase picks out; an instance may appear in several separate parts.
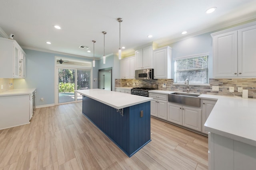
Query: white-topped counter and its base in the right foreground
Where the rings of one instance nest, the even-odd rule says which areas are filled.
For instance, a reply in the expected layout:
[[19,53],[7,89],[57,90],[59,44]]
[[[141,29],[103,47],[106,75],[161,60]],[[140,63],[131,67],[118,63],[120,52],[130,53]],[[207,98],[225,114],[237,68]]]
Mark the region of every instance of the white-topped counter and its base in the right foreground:
[[256,100],[200,95],[218,101],[204,124],[208,134],[209,170],[255,170]]

